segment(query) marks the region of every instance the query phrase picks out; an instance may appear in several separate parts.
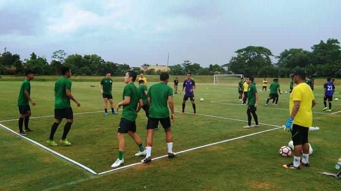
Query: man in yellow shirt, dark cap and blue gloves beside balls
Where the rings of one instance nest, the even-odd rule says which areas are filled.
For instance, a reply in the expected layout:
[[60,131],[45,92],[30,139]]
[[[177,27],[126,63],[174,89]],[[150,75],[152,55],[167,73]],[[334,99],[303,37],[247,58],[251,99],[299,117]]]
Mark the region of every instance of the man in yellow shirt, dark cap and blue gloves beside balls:
[[[284,164],[287,169],[300,170],[300,165],[309,167],[309,143],[308,130],[313,122],[311,108],[316,104],[315,97],[311,88],[305,84],[306,72],[298,69],[290,77],[294,79],[296,87],[290,94],[289,110],[290,117],[285,123],[284,130],[291,131],[292,141],[294,143],[294,162]],[[303,158],[301,159],[301,151]]]

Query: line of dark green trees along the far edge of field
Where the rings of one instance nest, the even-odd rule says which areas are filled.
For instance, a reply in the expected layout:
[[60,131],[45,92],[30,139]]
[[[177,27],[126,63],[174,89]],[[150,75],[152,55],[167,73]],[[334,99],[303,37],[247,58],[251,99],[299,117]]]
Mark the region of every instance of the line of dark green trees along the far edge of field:
[[[303,68],[312,77],[341,77],[341,49],[337,39],[323,40],[311,47],[312,51],[292,48],[284,50],[274,67],[270,56],[272,52],[265,47],[248,46],[237,50],[236,56],[232,56],[228,62],[228,70],[221,68],[218,64],[210,64],[203,68],[198,63],[191,63],[185,60],[183,63],[169,66],[171,75],[185,75],[191,72],[194,75],[213,74],[244,74],[255,77],[287,77],[298,68]],[[128,64],[117,64],[105,61],[96,54],[68,55],[63,50],[52,53],[52,61],[47,62],[46,56],[38,56],[35,52],[30,54],[29,59],[20,60],[19,54],[12,54],[6,51],[0,55],[0,74],[22,75],[26,69],[33,70],[38,75],[58,75],[62,66],[70,67],[75,75],[105,75],[106,71],[112,75],[124,76],[127,70],[131,69]],[[143,64],[148,66],[149,64]],[[147,75],[158,75],[161,70],[149,69],[146,71],[140,68],[133,68],[137,73]]]

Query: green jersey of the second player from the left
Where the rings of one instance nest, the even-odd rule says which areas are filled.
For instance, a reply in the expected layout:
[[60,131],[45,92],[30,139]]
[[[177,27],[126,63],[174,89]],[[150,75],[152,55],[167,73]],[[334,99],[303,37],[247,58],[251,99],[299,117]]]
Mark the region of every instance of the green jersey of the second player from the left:
[[66,95],[66,89],[71,92],[72,82],[67,77],[62,77],[55,84],[55,109],[71,107],[70,98]]

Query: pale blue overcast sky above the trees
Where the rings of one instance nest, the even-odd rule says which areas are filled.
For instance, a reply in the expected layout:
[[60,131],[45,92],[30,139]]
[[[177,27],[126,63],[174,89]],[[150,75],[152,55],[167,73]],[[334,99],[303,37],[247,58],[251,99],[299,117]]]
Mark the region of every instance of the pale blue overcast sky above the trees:
[[[264,46],[279,55],[341,41],[341,0],[0,0],[0,53],[59,49],[130,66],[226,64]],[[277,62],[272,58],[273,62]]]

